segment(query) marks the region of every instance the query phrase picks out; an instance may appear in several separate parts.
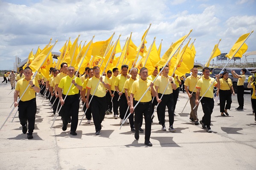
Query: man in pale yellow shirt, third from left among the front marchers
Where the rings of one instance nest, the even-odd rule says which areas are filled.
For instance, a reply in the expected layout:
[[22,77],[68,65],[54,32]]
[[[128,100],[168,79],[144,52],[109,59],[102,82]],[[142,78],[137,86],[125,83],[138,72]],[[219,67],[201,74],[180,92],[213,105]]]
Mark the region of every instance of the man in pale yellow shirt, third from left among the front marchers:
[[[106,114],[106,89],[111,93],[110,86],[108,84],[108,79],[105,76],[100,77],[100,70],[98,66],[93,67],[94,76],[89,79],[87,83],[87,96],[86,96],[86,107],[92,107],[93,123],[95,125],[96,133],[95,135],[100,135],[100,130],[102,128],[101,123]],[[100,81],[100,83],[99,83]],[[99,85],[97,86],[97,84]],[[95,91],[95,93],[94,93]],[[92,101],[89,106],[89,96],[93,95]]]

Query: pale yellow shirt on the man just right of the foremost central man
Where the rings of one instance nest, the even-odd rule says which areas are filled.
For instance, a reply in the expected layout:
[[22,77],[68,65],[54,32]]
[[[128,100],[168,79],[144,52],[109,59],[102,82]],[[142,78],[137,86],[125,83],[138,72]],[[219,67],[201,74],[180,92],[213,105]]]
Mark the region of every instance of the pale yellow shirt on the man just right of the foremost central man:
[[163,94],[163,91],[166,88],[167,84],[168,84],[168,87],[164,92],[164,95],[169,95],[172,93],[172,84],[171,82],[169,82],[169,78],[170,78],[169,76],[166,78],[163,75],[157,77],[154,83],[154,86],[158,86],[158,93]]

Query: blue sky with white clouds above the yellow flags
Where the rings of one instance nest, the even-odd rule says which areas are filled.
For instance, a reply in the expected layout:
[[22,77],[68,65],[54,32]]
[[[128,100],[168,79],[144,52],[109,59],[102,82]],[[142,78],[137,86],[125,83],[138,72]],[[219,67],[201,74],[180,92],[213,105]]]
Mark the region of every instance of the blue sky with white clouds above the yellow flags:
[[[0,0],[0,69],[12,69],[15,56],[27,58],[33,48],[43,48],[52,37],[58,39],[58,52],[66,40],[94,42],[106,40],[116,32],[121,46],[132,34],[139,46],[147,35],[150,46],[161,39],[161,56],[172,42],[193,32],[196,38],[195,61],[204,63],[221,38],[219,49],[229,52],[239,36],[256,29],[255,0]],[[256,30],[255,30],[256,31]],[[255,51],[256,32],[247,40],[248,50]]]

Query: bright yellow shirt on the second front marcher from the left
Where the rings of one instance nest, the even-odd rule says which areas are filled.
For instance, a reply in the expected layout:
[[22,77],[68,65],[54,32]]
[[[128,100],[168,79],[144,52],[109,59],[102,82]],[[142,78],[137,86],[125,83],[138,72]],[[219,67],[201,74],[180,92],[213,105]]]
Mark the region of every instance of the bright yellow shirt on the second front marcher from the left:
[[[76,86],[71,83],[73,78],[74,78],[74,76],[72,78],[70,76],[66,76],[64,78],[61,78],[61,81],[58,84],[58,87],[63,89],[62,94],[64,94],[64,95],[76,95],[76,94],[79,93],[79,89],[76,88]],[[75,82],[76,82],[77,85],[82,86],[82,82],[81,82],[81,79],[79,77],[75,78]],[[71,88],[70,88],[70,85],[71,85]],[[70,91],[67,93],[69,88],[70,88]]]

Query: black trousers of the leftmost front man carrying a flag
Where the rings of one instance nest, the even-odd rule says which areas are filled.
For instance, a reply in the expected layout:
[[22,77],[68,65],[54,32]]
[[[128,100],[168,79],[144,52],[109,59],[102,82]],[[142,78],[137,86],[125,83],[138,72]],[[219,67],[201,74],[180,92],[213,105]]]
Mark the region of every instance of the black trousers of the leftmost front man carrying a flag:
[[35,98],[29,101],[20,101],[18,106],[20,124],[26,126],[28,121],[28,133],[32,134],[35,129],[35,113],[36,101]]

